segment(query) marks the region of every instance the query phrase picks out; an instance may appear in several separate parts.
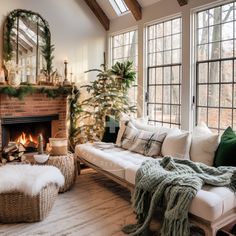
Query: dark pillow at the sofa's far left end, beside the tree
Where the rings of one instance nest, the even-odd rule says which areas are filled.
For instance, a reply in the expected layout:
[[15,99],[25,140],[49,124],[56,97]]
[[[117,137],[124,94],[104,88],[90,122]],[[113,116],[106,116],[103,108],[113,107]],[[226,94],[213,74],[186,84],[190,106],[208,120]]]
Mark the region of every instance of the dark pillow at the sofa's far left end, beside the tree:
[[119,131],[119,122],[111,116],[106,116],[106,127],[102,142],[115,143]]

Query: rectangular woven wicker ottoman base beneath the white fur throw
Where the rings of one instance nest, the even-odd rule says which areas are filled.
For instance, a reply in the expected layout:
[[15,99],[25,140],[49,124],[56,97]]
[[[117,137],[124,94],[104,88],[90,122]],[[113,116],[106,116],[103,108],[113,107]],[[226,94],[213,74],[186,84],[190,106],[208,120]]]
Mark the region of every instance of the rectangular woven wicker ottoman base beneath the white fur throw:
[[36,196],[21,192],[0,194],[0,222],[37,222],[43,220],[52,209],[58,195],[58,186],[49,184]]

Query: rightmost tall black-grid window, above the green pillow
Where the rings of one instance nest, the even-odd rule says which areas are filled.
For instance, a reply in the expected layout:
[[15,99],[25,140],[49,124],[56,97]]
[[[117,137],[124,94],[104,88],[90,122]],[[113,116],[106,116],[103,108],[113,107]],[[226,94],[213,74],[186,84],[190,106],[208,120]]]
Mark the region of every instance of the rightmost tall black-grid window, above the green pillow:
[[236,130],[235,2],[196,14],[196,122]]

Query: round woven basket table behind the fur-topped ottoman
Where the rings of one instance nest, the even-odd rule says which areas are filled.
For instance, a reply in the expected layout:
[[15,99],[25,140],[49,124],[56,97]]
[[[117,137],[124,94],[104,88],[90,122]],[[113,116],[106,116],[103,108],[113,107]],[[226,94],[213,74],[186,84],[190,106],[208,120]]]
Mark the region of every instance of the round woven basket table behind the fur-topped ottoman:
[[45,164],[57,167],[65,177],[65,184],[60,187],[59,193],[64,193],[73,186],[77,177],[77,162],[73,154],[50,156]]

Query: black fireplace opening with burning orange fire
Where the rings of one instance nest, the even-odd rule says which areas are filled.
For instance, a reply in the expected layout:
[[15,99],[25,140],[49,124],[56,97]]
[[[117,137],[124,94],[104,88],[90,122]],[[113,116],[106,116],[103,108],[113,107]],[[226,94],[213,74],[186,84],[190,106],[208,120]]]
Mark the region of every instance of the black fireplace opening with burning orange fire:
[[12,141],[23,144],[26,152],[34,152],[37,150],[39,134],[44,138],[45,148],[52,137],[52,121],[58,119],[58,114],[2,118],[2,148]]

